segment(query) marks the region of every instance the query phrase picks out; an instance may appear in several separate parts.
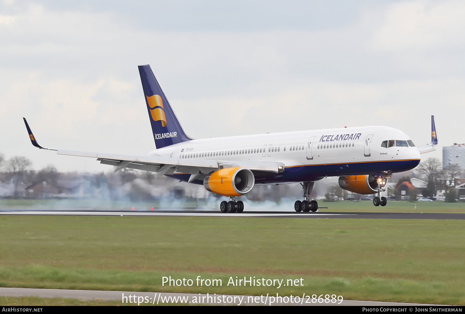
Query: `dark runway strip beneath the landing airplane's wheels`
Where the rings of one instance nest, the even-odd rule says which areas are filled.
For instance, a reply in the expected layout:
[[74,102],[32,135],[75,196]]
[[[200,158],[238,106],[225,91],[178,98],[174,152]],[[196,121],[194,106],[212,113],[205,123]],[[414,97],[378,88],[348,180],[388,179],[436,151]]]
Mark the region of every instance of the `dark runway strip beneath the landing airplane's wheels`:
[[352,219],[458,219],[465,214],[451,213],[342,213],[342,212],[259,212],[221,213],[219,211],[0,211],[0,215],[72,215],[72,216],[188,216],[188,217],[261,217],[261,218],[352,218]]

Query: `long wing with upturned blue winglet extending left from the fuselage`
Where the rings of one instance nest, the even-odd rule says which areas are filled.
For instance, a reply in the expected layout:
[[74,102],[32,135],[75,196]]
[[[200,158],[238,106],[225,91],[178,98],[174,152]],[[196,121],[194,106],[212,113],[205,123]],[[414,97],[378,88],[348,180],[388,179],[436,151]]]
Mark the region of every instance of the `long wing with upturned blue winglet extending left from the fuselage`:
[[174,172],[187,173],[192,174],[188,181],[191,182],[202,177],[202,175],[210,174],[216,170],[226,167],[246,167],[254,174],[263,172],[268,174],[278,174],[284,171],[284,164],[282,162],[179,159],[159,156],[122,155],[46,148],[37,143],[37,140],[34,137],[31,128],[27,124],[26,119],[23,119],[33,146],[40,149],[56,151],[59,155],[96,158],[97,160],[100,160],[101,164],[116,166],[115,172],[127,167],[155,172],[155,178],[159,178],[163,174],[173,174]]

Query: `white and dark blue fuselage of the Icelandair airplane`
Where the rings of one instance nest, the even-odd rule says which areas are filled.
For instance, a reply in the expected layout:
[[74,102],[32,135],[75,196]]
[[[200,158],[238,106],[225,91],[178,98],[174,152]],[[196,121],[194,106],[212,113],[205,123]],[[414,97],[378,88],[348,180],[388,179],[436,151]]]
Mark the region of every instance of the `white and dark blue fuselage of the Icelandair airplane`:
[[190,140],[147,155],[231,161],[278,161],[279,175],[257,183],[319,180],[325,176],[401,172],[416,167],[417,147],[382,147],[386,140],[410,140],[392,127],[345,127]]

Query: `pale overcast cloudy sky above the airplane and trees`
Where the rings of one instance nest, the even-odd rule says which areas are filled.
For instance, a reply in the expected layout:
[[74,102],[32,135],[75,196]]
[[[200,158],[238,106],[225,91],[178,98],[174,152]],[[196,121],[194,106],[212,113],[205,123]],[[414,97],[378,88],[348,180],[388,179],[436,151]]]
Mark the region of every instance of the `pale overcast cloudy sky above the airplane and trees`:
[[[73,2],[73,3],[71,3]],[[40,145],[155,148],[138,65],[193,138],[395,127],[465,142],[464,1],[3,1],[0,153],[109,171]],[[422,158],[441,157],[438,152]]]

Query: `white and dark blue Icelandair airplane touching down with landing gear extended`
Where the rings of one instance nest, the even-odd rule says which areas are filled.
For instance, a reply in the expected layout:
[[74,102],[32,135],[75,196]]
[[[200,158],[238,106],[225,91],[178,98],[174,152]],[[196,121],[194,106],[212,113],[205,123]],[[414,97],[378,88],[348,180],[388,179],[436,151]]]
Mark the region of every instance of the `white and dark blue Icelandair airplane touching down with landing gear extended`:
[[229,197],[222,213],[241,213],[244,203],[236,197],[255,185],[299,182],[304,200],[296,200],[297,212],[315,212],[311,200],[315,181],[339,176],[339,186],[358,194],[378,194],[374,206],[385,206],[381,197],[392,173],[413,169],[420,154],[436,150],[438,137],[431,116],[431,142],[416,147],[402,131],[392,127],[343,127],[312,131],[267,133],[192,139],[184,132],[150,65],[139,66],[144,99],[156,149],[141,155],[107,154],[45,148],[37,143],[25,118],[33,146],[57,154],[96,158],[115,166],[115,172],[133,168],[176,180],[203,185],[206,190]]

